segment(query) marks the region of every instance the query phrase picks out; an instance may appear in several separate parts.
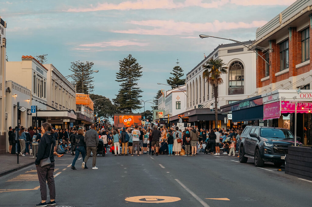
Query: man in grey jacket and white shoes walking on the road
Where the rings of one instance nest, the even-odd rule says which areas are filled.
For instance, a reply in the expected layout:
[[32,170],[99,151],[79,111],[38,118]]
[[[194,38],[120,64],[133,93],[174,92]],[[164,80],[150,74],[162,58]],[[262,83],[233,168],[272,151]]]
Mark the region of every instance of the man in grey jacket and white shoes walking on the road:
[[91,151],[93,154],[93,160],[92,160],[92,169],[96,170],[98,169],[96,164],[96,147],[99,143],[99,135],[95,131],[95,125],[91,124],[91,129],[87,132],[85,132],[85,144],[87,146],[87,156],[85,156],[85,160],[82,162],[82,169],[85,169],[85,163],[87,163],[89,157],[91,156]]

